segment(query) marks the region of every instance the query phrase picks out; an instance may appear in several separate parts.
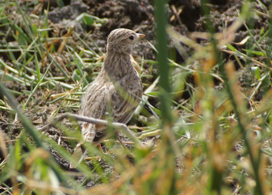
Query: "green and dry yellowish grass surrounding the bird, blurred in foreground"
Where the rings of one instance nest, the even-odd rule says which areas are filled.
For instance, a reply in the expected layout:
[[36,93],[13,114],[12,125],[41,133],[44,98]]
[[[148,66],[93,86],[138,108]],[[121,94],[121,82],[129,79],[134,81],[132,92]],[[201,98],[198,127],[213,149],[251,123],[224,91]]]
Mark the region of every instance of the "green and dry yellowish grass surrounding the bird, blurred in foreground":
[[[159,83],[157,78],[153,84],[145,84],[148,88],[144,103],[136,111],[140,116],[153,115],[152,120],[144,123],[137,115],[135,118],[144,127],[134,127],[141,130],[136,133],[139,139],[155,137],[155,144],[147,144],[146,149],[133,147],[131,152],[136,156],[133,160],[126,157],[124,150],[116,149],[113,155],[103,155],[88,146],[89,151],[94,151],[93,156],[102,155],[105,164],[112,167],[111,171],[94,158],[92,166],[82,163],[79,172],[73,172],[60,166],[50,153],[53,148],[64,159],[72,160],[67,148],[36,131],[31,121],[33,117],[23,113],[34,115],[33,112],[40,112],[34,110],[35,105],[47,101],[47,106],[53,107],[51,115],[47,116],[50,118],[44,119],[48,122],[63,109],[79,108],[81,94],[98,74],[102,51],[97,45],[99,52],[90,48],[86,42],[95,41],[89,36],[80,37],[73,27],[62,37],[50,37],[52,26],[47,19],[48,9],[37,15],[26,12],[28,7],[39,6],[37,1],[26,2],[24,6],[17,1],[1,2],[0,108],[3,115],[9,115],[1,119],[1,194],[270,193],[271,9],[263,13],[270,17],[268,28],[263,29],[261,38],[256,40],[251,34],[254,4],[245,1],[238,19],[222,33],[215,33],[206,3],[202,1],[202,11],[209,33],[201,36],[208,36],[210,43],[203,46],[167,26],[165,15],[161,14],[164,3],[155,1],[158,62],[141,59],[141,63],[159,69]],[[5,11],[11,6],[18,10],[20,24],[18,15]],[[104,22],[87,14],[78,20],[83,20],[85,25]],[[232,44],[235,32],[242,25],[248,28],[244,52]],[[77,37],[78,44],[69,41],[72,34]],[[183,56],[183,64],[167,58],[167,34]],[[259,43],[265,38],[267,45],[262,47]],[[181,43],[194,52],[186,54]],[[234,56],[235,61],[229,60],[229,55]],[[86,69],[91,69],[90,73],[87,74]],[[238,82],[241,70],[250,75],[243,81],[245,87]],[[194,85],[188,82],[188,77],[193,78]],[[216,89],[218,83],[222,87]],[[184,90],[189,91],[189,98],[180,102]],[[258,101],[254,98],[257,93],[261,97]],[[13,96],[22,100],[20,106]],[[149,97],[159,101],[160,107],[148,103]],[[150,112],[143,107],[145,104]],[[16,121],[21,121],[22,125],[13,135]],[[79,138],[80,127],[74,121],[72,124],[78,132],[76,135],[71,127],[57,126],[66,137]],[[131,129],[134,131],[134,128]],[[71,140],[70,144],[74,146],[75,142]],[[112,146],[111,141],[106,144],[109,148]],[[80,176],[84,176],[84,180],[77,182]],[[94,180],[96,185],[86,189],[88,180]]]

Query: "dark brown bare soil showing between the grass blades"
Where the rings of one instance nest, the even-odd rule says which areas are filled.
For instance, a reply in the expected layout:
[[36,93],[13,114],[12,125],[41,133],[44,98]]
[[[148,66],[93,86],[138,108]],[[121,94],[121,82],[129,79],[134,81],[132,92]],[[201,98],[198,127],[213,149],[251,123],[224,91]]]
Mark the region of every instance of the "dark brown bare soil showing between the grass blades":
[[[19,1],[21,5],[24,5],[26,1]],[[147,1],[147,0],[121,0],[121,1],[115,1],[115,0],[108,0],[108,1],[99,1],[99,0],[64,0],[63,1],[65,6],[62,8],[57,7],[57,1],[50,0],[50,8],[48,13],[48,18],[50,20],[49,28],[54,27],[54,29],[50,31],[51,37],[56,36],[62,36],[65,35],[70,26],[75,27],[75,31],[80,35],[81,38],[86,36],[86,32],[91,31],[90,36],[95,41],[95,43],[99,46],[99,48],[105,53],[105,46],[106,46],[106,39],[108,34],[115,28],[128,28],[137,31],[138,33],[145,34],[145,41],[139,42],[134,50],[133,50],[133,56],[137,60],[137,57],[148,60],[156,60],[156,51],[148,44],[147,41],[149,41],[151,44],[156,45],[156,36],[155,36],[155,19],[154,19],[154,5],[153,1]],[[270,0],[261,0],[261,2],[266,5],[267,9],[270,9],[271,2]],[[243,1],[242,0],[211,0],[209,7],[211,9],[211,15],[212,15],[212,23],[214,25],[214,28],[217,32],[220,32],[223,30],[223,24],[226,26],[229,26],[232,24],[233,21],[237,19],[237,10],[241,9]],[[47,8],[47,0],[43,2],[43,8]],[[13,12],[12,8],[9,8],[10,10],[6,10],[6,12]],[[182,9],[182,12],[179,14],[179,17],[175,15],[175,10],[178,11]],[[262,7],[260,7],[257,3],[255,3],[255,10],[262,12]],[[15,10],[16,11],[16,10]],[[28,10],[29,14],[31,13],[37,13],[41,12],[41,10]],[[92,25],[92,26],[83,26],[81,23],[76,22],[76,17],[80,15],[81,13],[86,12],[89,15],[94,15],[99,18],[107,18],[105,24],[102,25]],[[202,9],[201,4],[199,0],[192,0],[192,1],[186,1],[186,0],[171,0],[169,2],[169,5],[167,5],[167,18],[170,23],[170,25],[173,25],[173,28],[180,32],[183,35],[189,35],[190,32],[198,31],[198,32],[205,32],[205,22],[206,18],[202,15]],[[20,23],[20,20],[22,18],[18,19],[18,23]],[[256,17],[254,25],[254,31],[252,33],[254,34],[255,38],[258,39],[259,32],[261,29],[266,27],[268,25],[267,18],[265,16],[259,15]],[[246,36],[248,35],[247,29],[242,26],[239,28],[237,33],[235,34],[235,43],[238,43],[242,41]],[[8,41],[8,40],[7,40]],[[10,38],[9,41],[13,41],[12,38]],[[73,44],[81,44],[79,39],[73,35]],[[200,43],[204,43],[203,40],[198,40]],[[267,43],[267,40],[262,40],[261,46],[265,48],[265,45]],[[69,43],[68,43],[69,44]],[[96,52],[99,52],[94,43],[89,41],[86,42],[91,48],[93,48]],[[170,47],[173,48],[172,44],[170,43]],[[186,51],[190,54],[191,49],[186,47]],[[245,48],[245,45],[236,46],[236,48],[239,51],[242,51],[242,49]],[[18,54],[19,55],[19,54]],[[234,59],[233,56],[230,56],[228,54],[225,54],[226,59]],[[71,62],[71,59],[68,57],[68,54],[66,52],[62,52],[59,54],[59,57],[63,60],[63,64],[68,64]],[[7,64],[11,65],[11,62],[9,61],[8,57],[5,55],[1,56],[2,60],[5,61]],[[260,59],[261,61],[261,59]],[[182,63],[183,58],[179,55],[178,52],[176,52],[176,62]],[[48,64],[50,64],[50,61],[48,60]],[[35,67],[35,64],[32,63],[33,67]],[[239,69],[240,67],[238,64],[235,64],[236,68]],[[44,72],[46,70],[47,66],[44,66],[44,70],[41,70]],[[69,67],[67,68],[68,71],[70,71]],[[240,70],[244,71],[244,70]],[[63,76],[63,73],[58,71],[58,68],[54,65],[51,66],[51,72],[55,73],[55,77]],[[143,74],[153,75],[153,77],[144,77],[143,83],[151,84],[158,75],[158,70],[156,67],[152,68],[152,70],[148,67],[147,63],[144,64],[144,70]],[[244,75],[244,74],[241,74]],[[192,80],[193,79],[188,78]],[[71,82],[71,81],[67,81]],[[241,76],[240,82],[244,82],[244,77]],[[25,89],[30,90],[30,88],[22,87],[16,82],[5,82],[6,86],[10,89],[16,89],[17,91],[23,91]],[[220,87],[220,86],[216,86]],[[145,87],[146,88],[146,87]],[[259,90],[261,91],[261,89]],[[55,110],[59,107],[60,103],[56,102],[54,104],[47,104],[47,101],[49,100],[40,100],[39,97],[41,95],[42,89],[38,90],[37,93],[34,95],[34,98],[36,100],[35,104],[31,103],[29,106],[30,108],[26,111],[24,111],[25,115],[33,121],[33,125],[40,127],[44,124],[42,121],[42,115],[45,113],[45,115],[50,115],[50,112],[52,110]],[[62,88],[59,88],[58,91],[50,91],[50,94],[56,94],[63,92]],[[49,95],[50,96],[50,95]],[[49,97],[48,96],[48,97]],[[255,99],[261,99],[262,94],[255,95]],[[0,98],[3,98],[2,95],[0,95]],[[26,96],[18,96],[16,97],[17,101],[26,101]],[[186,100],[186,98],[189,98],[188,93],[186,91],[184,92],[182,96],[182,100]],[[149,99],[150,103],[154,107],[158,107],[158,102],[154,98]],[[180,100],[181,101],[181,100]],[[77,113],[78,111],[76,109],[61,109],[60,114],[64,113],[66,111]],[[14,115],[10,114],[8,111],[0,110],[0,128],[5,131],[5,133],[11,138],[15,139],[16,136],[20,134],[21,124],[20,122],[14,121]],[[46,123],[46,122],[45,122]],[[141,126],[141,124],[138,125]],[[51,128],[47,132],[48,136],[52,138],[53,140],[58,141],[58,138],[60,136],[65,136],[63,132],[58,130],[57,128]],[[125,139],[124,137],[122,139]],[[70,153],[73,152],[73,147],[70,145],[70,141],[67,140],[61,140],[61,145],[63,145]],[[57,152],[53,149],[51,149],[51,152],[53,156],[56,158],[58,163],[63,167],[65,170],[69,170],[69,162],[67,160],[60,157]],[[0,156],[1,159],[3,159]],[[106,173],[110,173],[112,171],[112,167],[108,166],[101,160],[101,166],[105,170]],[[90,164],[90,166],[92,166]],[[79,177],[78,181],[83,181],[84,177]],[[92,187],[93,185],[96,185],[99,183],[99,181],[89,181],[86,183],[86,187]]]

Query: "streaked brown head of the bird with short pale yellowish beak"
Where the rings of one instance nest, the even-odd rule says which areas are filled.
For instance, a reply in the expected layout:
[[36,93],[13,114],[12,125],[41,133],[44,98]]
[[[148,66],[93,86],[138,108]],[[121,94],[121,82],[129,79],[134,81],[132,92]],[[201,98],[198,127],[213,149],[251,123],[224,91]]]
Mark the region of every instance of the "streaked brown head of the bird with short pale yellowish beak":
[[107,52],[117,52],[130,55],[135,43],[145,37],[125,28],[117,28],[108,35]]

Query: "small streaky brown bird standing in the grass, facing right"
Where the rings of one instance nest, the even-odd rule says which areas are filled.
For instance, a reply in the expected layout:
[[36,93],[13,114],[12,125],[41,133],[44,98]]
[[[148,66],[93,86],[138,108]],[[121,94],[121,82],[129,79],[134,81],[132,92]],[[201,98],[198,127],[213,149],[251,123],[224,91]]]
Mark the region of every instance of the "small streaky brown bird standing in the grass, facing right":
[[[83,116],[105,119],[109,115],[116,122],[128,123],[143,94],[141,78],[131,64],[130,55],[135,43],[144,36],[125,28],[115,29],[109,34],[101,72],[82,98]],[[81,140],[73,153],[78,164],[86,153],[85,142],[100,146],[110,136],[107,127],[91,123],[83,123],[81,132]],[[118,132],[117,138],[121,142]],[[78,164],[71,163],[70,168]]]

